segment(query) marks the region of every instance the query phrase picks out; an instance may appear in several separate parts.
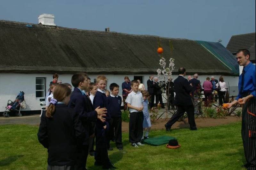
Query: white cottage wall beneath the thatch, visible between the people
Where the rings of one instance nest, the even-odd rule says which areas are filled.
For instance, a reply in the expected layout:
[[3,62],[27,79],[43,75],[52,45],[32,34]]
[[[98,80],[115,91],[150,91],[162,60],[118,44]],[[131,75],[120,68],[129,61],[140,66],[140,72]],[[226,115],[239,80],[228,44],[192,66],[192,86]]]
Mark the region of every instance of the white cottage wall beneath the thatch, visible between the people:
[[[91,81],[97,78],[98,75],[89,75]],[[128,76],[130,80],[133,80],[134,76],[141,76],[142,82],[147,90],[147,80],[149,74],[130,74],[130,75],[105,75],[108,78],[107,89],[109,90],[109,85],[111,83],[117,83],[119,87],[119,95],[122,96],[122,83],[124,82],[124,77]],[[154,75],[156,77],[157,75]],[[215,79],[219,80],[220,75],[213,75]],[[71,74],[59,74],[59,80],[63,83],[71,84]],[[173,81],[178,75],[173,75]],[[198,79],[201,80],[201,84],[206,80],[206,77],[211,77],[211,75],[199,75]],[[223,76],[226,83],[229,82],[230,86],[237,86],[238,76]],[[27,108],[25,111],[30,110],[40,110],[39,98],[36,98],[36,78],[45,78],[45,91],[47,92],[49,84],[52,81],[52,74],[18,74],[18,73],[0,73],[0,112],[5,111],[8,100],[15,100],[20,91],[25,93],[25,101]],[[187,78],[187,76],[185,76]],[[161,78],[159,79],[161,80]],[[73,87],[74,89],[74,87]],[[122,103],[123,106],[123,103]],[[24,110],[24,109],[21,109]]]

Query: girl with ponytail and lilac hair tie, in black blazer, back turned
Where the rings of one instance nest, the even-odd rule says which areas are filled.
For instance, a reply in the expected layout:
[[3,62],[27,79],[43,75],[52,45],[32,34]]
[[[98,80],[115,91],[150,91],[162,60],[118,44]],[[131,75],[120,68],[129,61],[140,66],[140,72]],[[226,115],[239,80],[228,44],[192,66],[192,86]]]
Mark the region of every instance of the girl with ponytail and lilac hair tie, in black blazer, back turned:
[[77,148],[84,140],[84,128],[78,114],[69,108],[71,89],[59,84],[54,98],[41,116],[37,137],[48,150],[47,169],[73,169]]

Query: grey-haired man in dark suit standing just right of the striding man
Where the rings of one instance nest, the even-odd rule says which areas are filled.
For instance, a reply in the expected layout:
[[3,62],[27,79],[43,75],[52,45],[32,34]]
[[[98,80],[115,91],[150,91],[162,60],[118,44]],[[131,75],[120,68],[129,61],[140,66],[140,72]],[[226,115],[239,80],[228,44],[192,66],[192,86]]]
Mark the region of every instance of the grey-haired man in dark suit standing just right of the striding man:
[[188,83],[192,84],[192,98],[193,98],[193,104],[195,107],[195,114],[199,114],[199,109],[198,109],[198,100],[199,100],[199,95],[200,95],[200,81],[197,80],[198,74],[194,74],[193,78],[191,78]]

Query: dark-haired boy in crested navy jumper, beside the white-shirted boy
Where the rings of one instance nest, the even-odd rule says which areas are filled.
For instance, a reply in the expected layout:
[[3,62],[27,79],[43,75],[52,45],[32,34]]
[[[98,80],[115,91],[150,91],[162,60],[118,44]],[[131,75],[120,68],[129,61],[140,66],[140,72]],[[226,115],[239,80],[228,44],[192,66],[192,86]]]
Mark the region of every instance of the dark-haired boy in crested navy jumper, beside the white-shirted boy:
[[111,119],[109,121],[109,134],[108,134],[108,147],[111,137],[115,137],[116,147],[119,150],[123,150],[122,143],[122,112],[121,103],[122,98],[118,96],[119,85],[111,83],[109,86],[110,96],[108,100],[108,112],[110,113]]

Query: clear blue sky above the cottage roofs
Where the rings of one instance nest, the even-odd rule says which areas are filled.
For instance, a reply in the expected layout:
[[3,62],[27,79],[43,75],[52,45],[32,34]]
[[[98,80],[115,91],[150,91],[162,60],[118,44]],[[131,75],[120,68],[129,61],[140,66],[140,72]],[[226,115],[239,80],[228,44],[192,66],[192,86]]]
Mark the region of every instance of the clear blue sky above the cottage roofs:
[[0,20],[37,24],[54,14],[57,26],[156,35],[190,40],[222,40],[255,32],[255,0],[1,0]]

